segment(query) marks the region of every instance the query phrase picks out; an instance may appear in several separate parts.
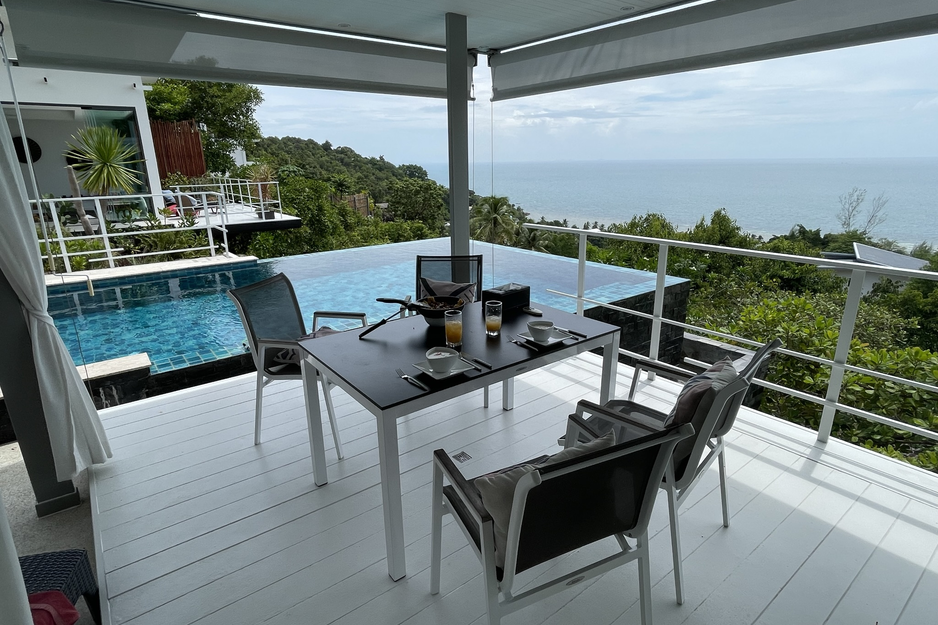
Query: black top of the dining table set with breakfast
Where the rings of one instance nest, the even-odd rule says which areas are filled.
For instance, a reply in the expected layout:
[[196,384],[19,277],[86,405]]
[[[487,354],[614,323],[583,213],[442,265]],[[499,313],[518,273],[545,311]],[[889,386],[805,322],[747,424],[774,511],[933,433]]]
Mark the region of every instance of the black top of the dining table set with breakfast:
[[[607,336],[619,330],[618,327],[601,321],[541,304],[538,306],[544,313],[542,319],[553,321],[559,327],[581,332],[588,339]],[[514,367],[537,358],[541,353],[562,349],[561,345],[557,344],[535,352],[509,342],[509,335],[526,332],[528,321],[535,319],[538,317],[520,311],[507,313],[502,322],[501,336],[490,338],[485,334],[482,304],[469,304],[463,309],[461,349],[466,354],[491,364],[491,371]],[[443,328],[428,326],[420,315],[390,321],[363,339],[358,338],[361,332],[362,330],[350,330],[331,336],[306,339],[300,342],[300,346],[324,364],[330,378],[341,378],[382,410],[426,394],[425,391],[401,380],[395,373],[397,368],[424,382],[431,393],[459,385],[465,382],[467,377],[485,376],[490,371],[483,367],[482,372],[471,370],[443,380],[434,380],[422,374],[413,364],[425,361],[427,350],[445,345],[446,338]],[[567,346],[572,343],[573,339],[564,342]]]

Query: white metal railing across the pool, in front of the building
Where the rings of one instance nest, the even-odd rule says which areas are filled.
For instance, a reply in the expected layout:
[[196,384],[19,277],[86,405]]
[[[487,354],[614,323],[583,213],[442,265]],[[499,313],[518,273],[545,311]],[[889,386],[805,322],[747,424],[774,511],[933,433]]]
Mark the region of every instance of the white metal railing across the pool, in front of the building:
[[[114,223],[125,223],[133,224],[135,221],[142,221],[143,219],[148,219],[149,217],[155,217],[162,224],[168,224],[171,220],[166,211],[161,208],[154,208],[155,206],[162,206],[163,196],[159,194],[136,194],[136,195],[99,195],[92,197],[64,197],[64,198],[43,198],[40,200],[41,208],[36,208],[35,200],[30,201],[30,205],[33,208],[34,212],[39,213],[40,220],[46,219],[46,211],[52,218],[53,230],[55,232],[54,237],[45,237],[39,238],[38,242],[45,243],[48,250],[49,262],[51,263],[54,258],[61,258],[62,264],[65,266],[66,273],[72,273],[72,264],[70,258],[73,256],[92,256],[104,254],[103,258],[89,258],[89,262],[107,262],[108,267],[113,268],[115,266],[115,258],[121,259],[132,259],[132,258],[143,258],[146,256],[153,256],[155,254],[181,254],[185,252],[202,252],[208,251],[211,256],[215,256],[216,250],[221,248],[221,252],[224,254],[228,253],[228,229],[226,227],[227,219],[225,213],[222,211],[219,213],[219,221],[217,223],[212,223],[212,219],[209,216],[207,210],[204,210],[208,206],[206,196],[212,195],[211,192],[202,192],[203,194],[203,205],[192,207],[193,210],[203,210],[204,215],[204,224],[194,225],[194,226],[180,226],[176,225],[173,229],[175,232],[186,231],[186,230],[204,230],[208,238],[207,246],[200,247],[191,247],[191,248],[182,248],[175,250],[161,250],[158,252],[139,252],[135,254],[123,254],[120,256],[115,256],[116,252],[123,252],[123,248],[113,248],[111,247],[111,239],[117,237],[128,236],[129,234],[140,235],[140,234],[165,234],[169,232],[165,229],[160,230],[134,230],[128,231],[126,228],[115,227]],[[215,194],[217,195],[217,194]],[[106,209],[110,209],[110,206],[106,206],[106,203],[111,201],[123,201],[123,202],[135,202],[138,205],[142,204],[142,212],[134,215],[127,215],[126,220],[118,221],[118,218],[109,221],[106,218]],[[149,201],[148,201],[149,200]],[[63,225],[62,220],[59,216],[59,205],[64,203],[75,203],[75,202],[92,202],[94,204],[94,209],[92,211],[86,211],[86,213],[91,213],[89,217],[94,217],[97,221],[97,229],[99,230],[96,234],[82,234],[77,236],[65,236],[66,230],[68,228]],[[224,207],[224,199],[221,198],[220,204]],[[110,229],[110,230],[109,230]],[[222,234],[222,241],[220,243],[215,243],[214,230],[218,230]],[[69,241],[82,241],[82,240],[98,240],[101,241],[104,249],[101,250],[86,250],[81,252],[69,252],[67,249],[67,243]],[[57,253],[52,252],[52,244],[57,243],[59,251]],[[50,271],[55,271],[54,267],[49,268]]]

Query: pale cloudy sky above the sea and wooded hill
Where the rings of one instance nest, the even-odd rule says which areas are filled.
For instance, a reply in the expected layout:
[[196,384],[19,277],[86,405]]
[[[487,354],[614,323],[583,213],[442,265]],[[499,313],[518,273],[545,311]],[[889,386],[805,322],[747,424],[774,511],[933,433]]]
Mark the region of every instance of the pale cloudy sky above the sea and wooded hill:
[[[938,35],[494,104],[484,65],[470,105],[477,163],[938,157]],[[447,160],[443,100],[261,89],[266,136],[395,164]]]

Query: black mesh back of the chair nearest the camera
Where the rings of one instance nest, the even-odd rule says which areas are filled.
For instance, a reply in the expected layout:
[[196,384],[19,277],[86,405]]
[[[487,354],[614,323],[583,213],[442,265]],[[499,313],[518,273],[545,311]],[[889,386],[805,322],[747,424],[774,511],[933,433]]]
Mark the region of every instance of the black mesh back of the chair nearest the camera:
[[684,425],[538,469],[515,572],[614,534],[643,534],[674,446],[692,433]]

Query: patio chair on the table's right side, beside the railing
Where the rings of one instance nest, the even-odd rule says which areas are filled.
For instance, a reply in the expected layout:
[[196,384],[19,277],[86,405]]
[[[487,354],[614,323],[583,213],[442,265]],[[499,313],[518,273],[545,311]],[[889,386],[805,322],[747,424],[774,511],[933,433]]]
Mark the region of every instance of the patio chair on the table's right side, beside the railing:
[[[736,422],[739,407],[749,390],[759,366],[781,346],[775,339],[759,348],[741,371],[725,367],[721,361],[703,374],[694,374],[678,367],[652,360],[640,360],[635,365],[628,399],[614,399],[603,406],[580,401],[576,413],[567,420],[564,445],[571,441],[584,442],[615,430],[618,439],[660,431],[680,423],[691,423],[695,436],[675,447],[674,455],[661,482],[667,492],[671,522],[671,553],[674,560],[674,590],[678,604],[684,603],[684,571],[681,557],[681,531],[678,510],[707,469],[718,460],[720,495],[723,503],[723,527],[730,526],[729,503],[726,494],[726,444],[723,437]],[[723,366],[721,366],[723,365]],[[715,371],[716,370],[716,371]],[[723,371],[722,380],[719,372]],[[634,401],[635,389],[642,371],[685,382],[675,409],[665,414]],[[590,415],[590,416],[586,416]],[[704,453],[706,452],[706,455]]]

